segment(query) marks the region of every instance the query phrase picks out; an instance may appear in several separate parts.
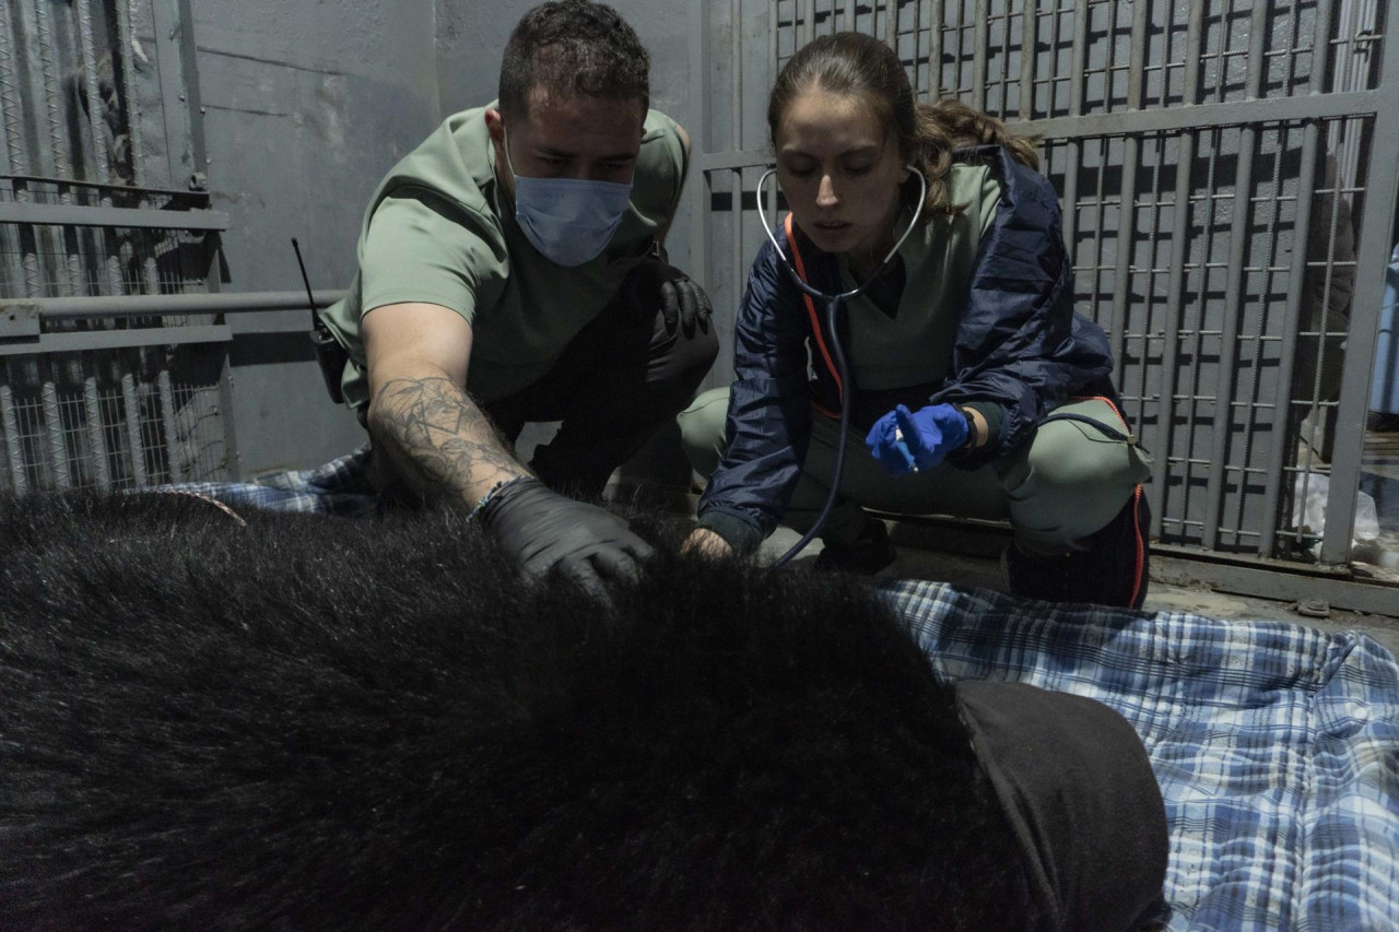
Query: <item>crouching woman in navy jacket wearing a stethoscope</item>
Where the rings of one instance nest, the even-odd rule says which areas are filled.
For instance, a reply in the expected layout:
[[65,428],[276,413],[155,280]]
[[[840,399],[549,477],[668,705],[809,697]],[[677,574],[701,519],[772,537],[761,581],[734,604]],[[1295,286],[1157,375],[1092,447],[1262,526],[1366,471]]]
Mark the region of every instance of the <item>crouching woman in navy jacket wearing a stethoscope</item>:
[[1118,413],[1108,341],[1073,312],[1058,199],[1030,143],[963,105],[916,105],[897,56],[859,34],[788,62],[768,127],[792,214],[782,255],[767,243],[753,264],[736,382],[680,416],[709,476],[688,546],[751,553],[778,521],[810,528],[827,498],[842,386],[790,262],[825,292],[869,283],[841,325],[858,435],[818,567],[894,560],[862,505],[1009,519],[1013,592],[1140,607],[1150,466]]

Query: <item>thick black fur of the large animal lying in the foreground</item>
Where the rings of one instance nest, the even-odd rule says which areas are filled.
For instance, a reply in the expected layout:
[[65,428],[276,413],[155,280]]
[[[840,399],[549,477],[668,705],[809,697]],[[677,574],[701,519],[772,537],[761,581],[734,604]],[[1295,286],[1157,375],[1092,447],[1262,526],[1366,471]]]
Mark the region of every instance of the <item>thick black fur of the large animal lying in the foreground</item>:
[[995,929],[951,689],[856,582],[609,609],[462,518],[0,501],[0,928]]

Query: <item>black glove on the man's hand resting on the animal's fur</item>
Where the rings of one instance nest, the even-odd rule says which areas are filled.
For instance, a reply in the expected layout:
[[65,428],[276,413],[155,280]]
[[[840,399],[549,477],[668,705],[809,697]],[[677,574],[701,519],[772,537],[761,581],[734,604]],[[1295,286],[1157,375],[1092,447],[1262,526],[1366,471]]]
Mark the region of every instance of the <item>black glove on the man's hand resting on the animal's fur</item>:
[[560,495],[533,477],[498,488],[477,518],[527,575],[557,568],[603,599],[603,581],[637,582],[637,563],[652,554],[651,544],[617,515]]

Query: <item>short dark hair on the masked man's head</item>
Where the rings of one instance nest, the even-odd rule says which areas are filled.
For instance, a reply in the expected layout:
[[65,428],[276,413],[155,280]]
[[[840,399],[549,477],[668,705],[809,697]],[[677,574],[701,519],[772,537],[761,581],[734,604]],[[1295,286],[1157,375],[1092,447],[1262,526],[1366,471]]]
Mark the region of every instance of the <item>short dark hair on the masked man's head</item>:
[[534,88],[550,97],[651,98],[651,56],[604,3],[553,0],[519,21],[501,62],[499,105],[523,115]]

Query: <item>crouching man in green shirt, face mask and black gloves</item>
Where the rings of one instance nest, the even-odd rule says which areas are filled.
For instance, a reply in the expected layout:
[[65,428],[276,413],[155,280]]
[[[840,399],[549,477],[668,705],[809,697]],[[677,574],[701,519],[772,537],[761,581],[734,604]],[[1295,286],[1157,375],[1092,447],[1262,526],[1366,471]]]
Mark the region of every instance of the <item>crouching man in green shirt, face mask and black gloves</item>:
[[[593,589],[649,547],[560,493],[602,493],[718,353],[708,298],[663,259],[690,146],[648,111],[648,70],[611,7],[530,10],[498,104],[450,116],[379,185],[360,274],[325,313],[381,491],[474,508],[522,568]],[[562,424],[527,469],[512,448],[530,420]]]

